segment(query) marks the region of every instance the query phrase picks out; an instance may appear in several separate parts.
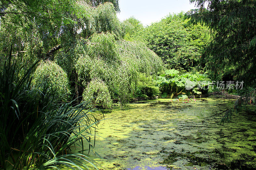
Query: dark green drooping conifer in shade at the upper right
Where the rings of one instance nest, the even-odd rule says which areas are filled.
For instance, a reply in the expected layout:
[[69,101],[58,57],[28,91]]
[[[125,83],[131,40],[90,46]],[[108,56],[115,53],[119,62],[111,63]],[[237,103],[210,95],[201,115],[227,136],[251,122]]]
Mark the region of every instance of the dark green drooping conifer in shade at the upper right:
[[[188,12],[191,23],[204,23],[212,30],[212,41],[201,58],[212,78],[255,84],[256,1],[190,0],[199,9]],[[208,4],[207,9],[204,7]]]

